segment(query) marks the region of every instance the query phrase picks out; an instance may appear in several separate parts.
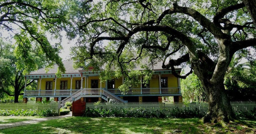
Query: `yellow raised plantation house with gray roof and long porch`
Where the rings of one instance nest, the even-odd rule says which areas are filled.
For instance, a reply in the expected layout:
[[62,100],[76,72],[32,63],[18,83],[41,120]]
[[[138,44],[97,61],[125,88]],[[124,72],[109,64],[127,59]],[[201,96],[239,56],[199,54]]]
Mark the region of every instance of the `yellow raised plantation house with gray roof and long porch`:
[[[66,73],[61,77],[56,77],[58,66],[33,71],[25,76],[25,79],[37,80],[38,87],[35,90],[24,90],[23,102],[27,102],[29,97],[36,97],[36,101],[42,101],[43,97],[49,100],[54,97],[57,101],[61,97],[64,104],[67,101],[82,100],[85,102],[108,101],[110,99],[116,102],[161,102],[162,97],[173,96],[175,102],[181,102],[180,80],[172,74],[171,70],[161,68],[162,63],[157,63],[154,68],[154,75],[147,85],[140,84],[136,88],[130,88],[127,94],[122,94],[118,89],[124,82],[124,77],[113,80],[101,81],[99,71],[92,71],[83,68],[73,68],[73,60],[63,61]],[[90,65],[87,65],[90,66]],[[141,70],[140,67],[136,68]],[[180,73],[181,69],[176,69]],[[138,78],[142,81],[143,77]],[[25,84],[26,87],[26,84]]]

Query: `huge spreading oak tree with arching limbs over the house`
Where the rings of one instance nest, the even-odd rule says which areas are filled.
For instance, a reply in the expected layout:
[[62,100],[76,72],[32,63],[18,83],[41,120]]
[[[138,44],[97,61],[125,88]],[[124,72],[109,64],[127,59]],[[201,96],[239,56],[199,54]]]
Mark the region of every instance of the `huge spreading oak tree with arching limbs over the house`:
[[[90,61],[130,77],[128,70],[140,60],[162,60],[163,68],[185,78],[188,74],[180,76],[175,66],[187,63],[207,94],[204,122],[236,118],[224,76],[237,51],[256,46],[255,25],[241,0],[90,1],[78,5],[75,20],[80,29],[79,45],[73,48],[78,65]],[[180,57],[173,60],[174,54]]]

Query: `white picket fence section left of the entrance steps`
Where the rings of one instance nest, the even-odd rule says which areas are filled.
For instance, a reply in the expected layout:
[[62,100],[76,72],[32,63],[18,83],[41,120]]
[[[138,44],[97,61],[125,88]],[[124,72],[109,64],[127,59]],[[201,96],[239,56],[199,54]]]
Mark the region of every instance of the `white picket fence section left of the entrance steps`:
[[16,109],[23,109],[23,110],[36,110],[36,111],[42,111],[47,109],[54,110],[54,113],[58,113],[58,103],[50,103],[50,104],[44,104],[44,103],[0,103],[0,109],[10,109],[10,110],[16,110]]

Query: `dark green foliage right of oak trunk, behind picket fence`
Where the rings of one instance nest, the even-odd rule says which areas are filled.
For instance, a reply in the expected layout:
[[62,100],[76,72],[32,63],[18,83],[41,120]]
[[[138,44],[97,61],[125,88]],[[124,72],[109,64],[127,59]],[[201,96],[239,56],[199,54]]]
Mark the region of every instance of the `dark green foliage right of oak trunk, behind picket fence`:
[[233,57],[224,81],[230,100],[256,100],[256,61],[254,58],[241,63],[241,59]]

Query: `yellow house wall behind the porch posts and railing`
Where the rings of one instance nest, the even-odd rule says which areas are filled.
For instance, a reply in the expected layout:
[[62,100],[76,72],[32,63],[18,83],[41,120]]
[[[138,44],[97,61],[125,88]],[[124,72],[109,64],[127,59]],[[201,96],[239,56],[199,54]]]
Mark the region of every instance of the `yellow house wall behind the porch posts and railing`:
[[[168,87],[177,87],[178,86],[178,82],[177,82],[178,79],[174,75],[164,74],[164,75],[161,75],[161,77],[168,78]],[[60,89],[61,81],[65,81],[65,80],[67,80],[67,89],[70,89],[71,78],[57,78],[57,80],[55,81],[56,89]],[[81,80],[81,77],[74,77],[72,79],[72,89],[76,88],[76,80]],[[84,86],[85,83],[86,83],[86,85],[88,84],[88,88],[91,88],[91,80],[99,80],[99,76],[88,77],[88,80],[86,80],[86,82],[84,79],[83,80],[83,88],[87,88],[87,86],[86,87]],[[140,80],[140,78],[139,78],[139,80]],[[53,78],[42,78],[41,90],[45,90],[47,81],[52,81],[52,89],[54,89],[55,82],[53,82]],[[153,75],[152,79],[149,81],[149,84],[150,84],[150,88],[158,88],[159,87],[159,76]],[[40,85],[40,80],[38,80],[38,89],[39,89],[39,85]],[[117,80],[115,79],[115,88],[118,88],[121,85],[122,85],[122,77],[120,77]],[[100,88],[100,80],[98,81],[98,88]],[[105,88],[105,81],[102,82],[102,88]],[[140,85],[136,86],[136,88],[140,88]]]

